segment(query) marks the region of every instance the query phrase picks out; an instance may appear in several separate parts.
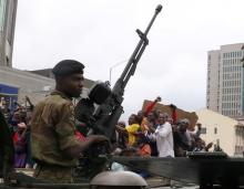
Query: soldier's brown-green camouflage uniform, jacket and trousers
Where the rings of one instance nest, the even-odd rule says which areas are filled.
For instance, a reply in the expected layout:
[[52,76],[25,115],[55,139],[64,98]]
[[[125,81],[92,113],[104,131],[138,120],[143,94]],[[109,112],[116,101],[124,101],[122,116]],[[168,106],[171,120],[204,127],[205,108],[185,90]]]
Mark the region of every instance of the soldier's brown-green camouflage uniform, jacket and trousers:
[[38,162],[34,171],[37,178],[53,182],[72,181],[71,171],[78,159],[64,151],[81,145],[74,133],[71,98],[55,91],[35,106],[31,123],[31,149]]

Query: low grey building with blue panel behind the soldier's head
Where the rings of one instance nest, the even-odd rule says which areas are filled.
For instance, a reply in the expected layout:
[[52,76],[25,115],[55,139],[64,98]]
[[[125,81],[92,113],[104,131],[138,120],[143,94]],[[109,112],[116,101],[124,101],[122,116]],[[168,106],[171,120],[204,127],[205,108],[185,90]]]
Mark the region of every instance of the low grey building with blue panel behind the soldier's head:
[[[48,70],[43,73],[47,73]],[[84,80],[84,87],[81,94],[82,97],[88,96],[89,88],[93,84],[93,81]],[[4,99],[9,101],[10,106],[16,101],[20,104],[24,104],[26,96],[29,96],[32,103],[37,104],[54,90],[54,80],[45,76],[45,74],[34,74],[28,71],[0,66],[0,97],[4,97]]]

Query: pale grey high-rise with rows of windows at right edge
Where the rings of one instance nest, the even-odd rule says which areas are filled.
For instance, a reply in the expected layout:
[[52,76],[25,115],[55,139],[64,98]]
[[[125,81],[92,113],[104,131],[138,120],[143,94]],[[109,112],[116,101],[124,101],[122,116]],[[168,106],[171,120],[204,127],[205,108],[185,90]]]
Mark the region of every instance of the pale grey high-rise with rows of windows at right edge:
[[243,45],[207,52],[206,108],[234,118],[244,116]]

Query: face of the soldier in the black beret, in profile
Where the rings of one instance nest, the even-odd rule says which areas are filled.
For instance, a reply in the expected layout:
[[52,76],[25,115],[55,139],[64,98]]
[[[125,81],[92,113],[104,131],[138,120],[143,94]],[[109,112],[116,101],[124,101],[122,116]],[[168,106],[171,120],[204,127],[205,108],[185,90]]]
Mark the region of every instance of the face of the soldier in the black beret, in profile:
[[65,93],[71,97],[80,97],[83,88],[83,74],[72,74],[67,76],[63,81]]

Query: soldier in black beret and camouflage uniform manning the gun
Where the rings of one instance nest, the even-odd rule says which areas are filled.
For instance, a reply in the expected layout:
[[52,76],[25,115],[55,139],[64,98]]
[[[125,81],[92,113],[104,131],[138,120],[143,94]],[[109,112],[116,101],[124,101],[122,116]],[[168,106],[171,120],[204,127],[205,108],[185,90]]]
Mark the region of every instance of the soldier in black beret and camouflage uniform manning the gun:
[[38,166],[34,177],[51,182],[72,182],[72,168],[80,154],[92,144],[105,141],[101,135],[91,135],[85,141],[74,133],[72,97],[79,97],[83,87],[84,65],[64,60],[52,70],[55,90],[35,107],[31,120],[32,157]]

